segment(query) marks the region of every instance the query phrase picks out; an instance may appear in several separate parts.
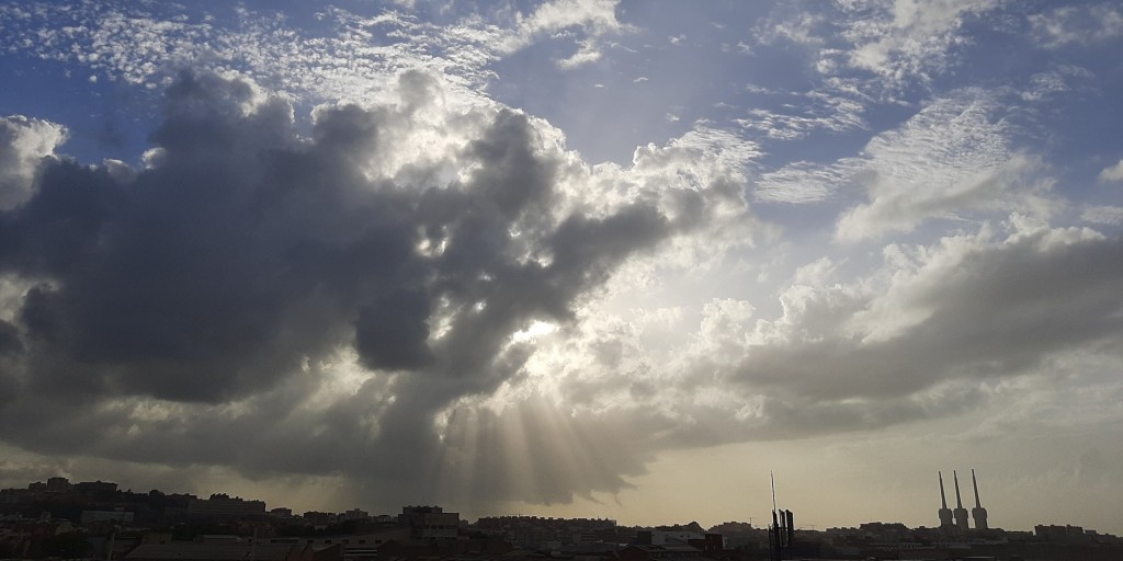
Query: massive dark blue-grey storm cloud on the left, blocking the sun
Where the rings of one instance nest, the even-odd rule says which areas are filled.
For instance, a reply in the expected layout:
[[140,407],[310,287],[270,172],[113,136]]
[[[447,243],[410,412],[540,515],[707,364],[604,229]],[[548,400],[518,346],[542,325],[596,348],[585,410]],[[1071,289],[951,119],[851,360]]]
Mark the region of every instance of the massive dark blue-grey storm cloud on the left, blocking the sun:
[[[345,473],[408,500],[440,468],[435,415],[520,376],[532,349],[513,333],[572,321],[621,263],[696,222],[645,200],[565,210],[579,205],[559,191],[562,153],[510,110],[447,119],[441,132],[464,138],[446,154],[380,172],[412,148],[420,113],[441,117],[432,79],[407,74],[401,89],[396,107],[321,109],[302,138],[287,103],[185,73],[145,168],[44,159],[30,197],[0,213],[0,274],[28,286],[0,323],[13,397],[2,438],[247,475]],[[328,384],[322,364],[348,348],[365,381],[307,406]],[[636,461],[532,497],[619,487]],[[481,488],[521,493],[502,479]]]

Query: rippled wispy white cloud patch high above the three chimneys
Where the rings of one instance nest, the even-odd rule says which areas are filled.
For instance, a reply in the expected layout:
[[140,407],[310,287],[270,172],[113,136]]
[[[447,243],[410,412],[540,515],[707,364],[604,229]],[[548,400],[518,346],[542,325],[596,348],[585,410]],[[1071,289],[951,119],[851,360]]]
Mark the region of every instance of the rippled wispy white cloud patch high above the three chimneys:
[[1054,212],[1060,201],[1049,193],[1051,181],[1035,158],[1014,150],[1001,111],[989,93],[964,91],[870,140],[857,171],[868,202],[840,217],[838,238],[909,232],[930,219],[978,212]]

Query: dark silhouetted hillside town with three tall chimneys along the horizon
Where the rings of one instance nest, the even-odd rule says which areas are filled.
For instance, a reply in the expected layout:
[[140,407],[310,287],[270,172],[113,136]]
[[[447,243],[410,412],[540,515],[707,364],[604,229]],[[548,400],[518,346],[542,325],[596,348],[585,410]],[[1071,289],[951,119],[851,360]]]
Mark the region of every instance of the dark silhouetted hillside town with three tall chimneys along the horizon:
[[[973,478],[974,479],[974,478]],[[942,481],[942,477],[941,477]],[[942,486],[941,486],[942,491]],[[956,478],[957,502],[958,477]],[[976,502],[978,497],[975,488]],[[758,561],[766,559],[1084,560],[1123,559],[1123,540],[1078,526],[1033,531],[976,526],[961,504],[940,525],[870,522],[807,530],[792,515],[777,528],[727,522],[624,526],[609,518],[489,516],[462,519],[440,506],[400,513],[293,513],[262,500],[213,494],[120,490],[53,477],[0,490],[0,559],[104,561]],[[948,514],[950,513],[950,514]],[[684,513],[685,514],[685,513]],[[784,512],[779,519],[784,521]],[[788,530],[788,532],[784,532]],[[774,531],[773,531],[774,530]],[[784,533],[783,550],[775,535]]]

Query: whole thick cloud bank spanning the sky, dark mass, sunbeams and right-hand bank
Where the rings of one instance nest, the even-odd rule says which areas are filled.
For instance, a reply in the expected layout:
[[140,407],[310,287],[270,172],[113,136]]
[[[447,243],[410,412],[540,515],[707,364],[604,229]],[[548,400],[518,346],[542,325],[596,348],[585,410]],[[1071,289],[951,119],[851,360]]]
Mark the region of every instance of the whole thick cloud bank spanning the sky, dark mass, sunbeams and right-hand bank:
[[[24,289],[0,324],[4,440],[343,476],[384,502],[554,503],[626,488],[659,450],[940,419],[980,383],[1119,350],[1123,245],[1021,214],[891,245],[847,284],[806,265],[775,319],[737,300],[694,325],[621,315],[642,272],[754,223],[745,155],[699,135],[590,168],[520,112],[448,111],[431,75],[399,91],[322,107],[303,137],[253,83],[185,73],[145,167],[43,156],[0,221]],[[663,329],[693,334],[659,350]]]

